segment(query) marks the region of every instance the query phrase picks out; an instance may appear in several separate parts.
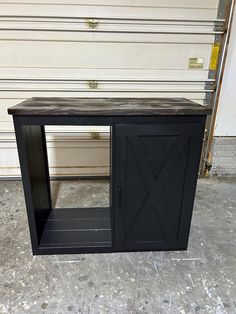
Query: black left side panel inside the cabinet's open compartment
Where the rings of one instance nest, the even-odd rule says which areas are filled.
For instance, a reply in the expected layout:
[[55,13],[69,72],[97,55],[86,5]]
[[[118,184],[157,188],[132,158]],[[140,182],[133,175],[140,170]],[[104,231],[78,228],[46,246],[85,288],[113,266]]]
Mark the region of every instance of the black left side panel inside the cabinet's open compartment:
[[33,252],[51,210],[51,193],[44,126],[14,120]]

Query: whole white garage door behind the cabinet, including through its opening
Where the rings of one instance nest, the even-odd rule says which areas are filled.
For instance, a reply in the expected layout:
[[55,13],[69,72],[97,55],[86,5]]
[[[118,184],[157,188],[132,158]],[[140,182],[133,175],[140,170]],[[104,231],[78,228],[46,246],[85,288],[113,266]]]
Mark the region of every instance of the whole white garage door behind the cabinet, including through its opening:
[[[29,97],[186,97],[206,104],[225,3],[0,1],[0,176],[20,175],[7,108]],[[50,127],[47,140],[51,174],[108,174],[106,127]]]

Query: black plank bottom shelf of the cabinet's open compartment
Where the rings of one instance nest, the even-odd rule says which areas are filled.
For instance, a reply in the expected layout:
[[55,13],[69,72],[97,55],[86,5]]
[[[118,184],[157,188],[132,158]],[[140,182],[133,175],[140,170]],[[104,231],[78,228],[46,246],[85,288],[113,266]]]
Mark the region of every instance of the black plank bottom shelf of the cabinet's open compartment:
[[56,208],[48,216],[42,248],[111,247],[110,208]]

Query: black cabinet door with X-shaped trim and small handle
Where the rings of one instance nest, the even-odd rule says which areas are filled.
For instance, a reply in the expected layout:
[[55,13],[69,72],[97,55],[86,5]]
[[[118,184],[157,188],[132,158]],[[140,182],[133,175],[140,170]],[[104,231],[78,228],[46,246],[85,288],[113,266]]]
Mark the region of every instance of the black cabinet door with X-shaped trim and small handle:
[[186,249],[203,132],[202,122],[115,126],[117,251]]

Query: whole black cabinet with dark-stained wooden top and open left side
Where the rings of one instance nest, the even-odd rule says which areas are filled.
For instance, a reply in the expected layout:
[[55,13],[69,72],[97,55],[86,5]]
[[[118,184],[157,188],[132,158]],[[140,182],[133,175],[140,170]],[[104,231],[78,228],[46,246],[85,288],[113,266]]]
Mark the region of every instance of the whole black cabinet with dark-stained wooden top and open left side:
[[[13,115],[34,254],[186,249],[208,107],[31,98]],[[45,125],[110,125],[107,208],[52,208]]]

